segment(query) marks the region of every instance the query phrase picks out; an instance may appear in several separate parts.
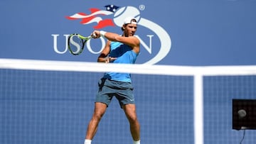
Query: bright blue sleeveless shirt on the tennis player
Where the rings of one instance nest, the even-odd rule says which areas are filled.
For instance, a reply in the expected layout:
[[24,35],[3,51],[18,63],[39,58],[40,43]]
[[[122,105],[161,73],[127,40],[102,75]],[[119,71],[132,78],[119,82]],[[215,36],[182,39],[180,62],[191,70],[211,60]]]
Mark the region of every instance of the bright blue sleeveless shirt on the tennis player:
[[[125,45],[119,42],[110,43],[110,55],[109,57],[117,57],[113,63],[121,64],[134,64],[138,54],[132,50],[129,45]],[[104,78],[111,79],[119,82],[132,82],[131,74],[120,72],[105,72]]]

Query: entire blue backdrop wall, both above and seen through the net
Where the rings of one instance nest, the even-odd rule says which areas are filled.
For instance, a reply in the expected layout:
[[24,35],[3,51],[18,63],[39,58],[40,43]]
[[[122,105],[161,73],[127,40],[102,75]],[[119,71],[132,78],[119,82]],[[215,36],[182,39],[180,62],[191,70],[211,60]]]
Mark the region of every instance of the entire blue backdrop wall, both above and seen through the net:
[[[107,9],[112,5],[118,8]],[[255,0],[1,0],[0,58],[95,62],[104,39],[91,40],[74,56],[67,51],[67,35],[121,33],[122,18],[132,15],[142,42],[138,64],[256,65],[255,7]],[[83,143],[100,77],[1,69],[0,143]],[[142,142],[193,143],[193,77],[134,74],[133,82]],[[255,99],[255,82],[255,76],[204,77],[206,144],[240,141],[242,131],[232,130],[231,101]],[[254,135],[247,131],[244,143],[255,143]],[[94,142],[132,142],[117,101]]]

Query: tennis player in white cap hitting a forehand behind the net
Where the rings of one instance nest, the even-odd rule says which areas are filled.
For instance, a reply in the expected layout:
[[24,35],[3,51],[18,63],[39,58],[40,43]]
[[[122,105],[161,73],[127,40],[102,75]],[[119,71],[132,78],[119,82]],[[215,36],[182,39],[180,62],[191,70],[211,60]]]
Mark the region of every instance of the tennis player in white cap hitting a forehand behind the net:
[[[105,31],[93,31],[93,38],[103,36],[107,38],[105,48],[102,50],[97,62],[112,62],[121,64],[134,64],[139,55],[139,39],[134,36],[137,31],[137,21],[135,18],[124,19],[122,35]],[[139,121],[137,119],[136,107],[134,103],[131,74],[119,72],[106,72],[99,80],[99,90],[95,100],[95,109],[92,119],[87,126],[85,144],[91,144],[95,136],[100,119],[109,106],[112,97],[116,97],[121,108],[129,121],[130,132],[134,144],[140,144]]]

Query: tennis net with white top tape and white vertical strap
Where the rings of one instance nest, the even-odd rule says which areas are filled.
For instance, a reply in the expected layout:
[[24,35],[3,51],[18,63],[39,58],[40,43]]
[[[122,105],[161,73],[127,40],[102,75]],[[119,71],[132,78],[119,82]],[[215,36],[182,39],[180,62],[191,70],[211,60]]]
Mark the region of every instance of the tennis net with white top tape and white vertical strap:
[[[232,99],[256,99],[256,66],[185,67],[0,59],[1,143],[83,143],[102,72],[130,72],[142,143],[238,143]],[[248,131],[245,143],[255,143]],[[93,143],[129,144],[113,99]]]

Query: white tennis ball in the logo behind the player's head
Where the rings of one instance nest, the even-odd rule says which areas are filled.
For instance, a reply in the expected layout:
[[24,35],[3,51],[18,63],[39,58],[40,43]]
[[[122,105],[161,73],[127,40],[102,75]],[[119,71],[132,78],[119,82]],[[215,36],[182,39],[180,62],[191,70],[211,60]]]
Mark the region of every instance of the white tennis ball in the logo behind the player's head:
[[114,23],[117,26],[122,27],[122,25],[124,24],[124,19],[132,16],[134,17],[137,22],[139,21],[140,18],[140,12],[137,8],[133,7],[133,6],[124,6],[122,8],[119,8],[115,13],[114,13]]

